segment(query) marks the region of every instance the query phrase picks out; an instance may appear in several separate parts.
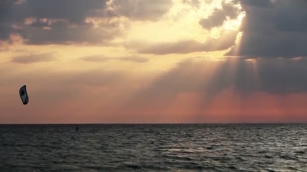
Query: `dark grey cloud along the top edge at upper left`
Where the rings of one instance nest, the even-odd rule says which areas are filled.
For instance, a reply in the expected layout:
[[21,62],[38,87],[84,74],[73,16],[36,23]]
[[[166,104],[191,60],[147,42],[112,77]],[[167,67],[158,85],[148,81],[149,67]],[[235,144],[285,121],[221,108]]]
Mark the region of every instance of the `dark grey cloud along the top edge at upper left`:
[[[25,18],[37,19],[65,19],[70,23],[83,23],[87,17],[102,17],[108,0],[55,0],[39,1],[27,0],[21,4],[11,5],[7,17],[15,21]],[[12,4],[12,3],[10,3]],[[73,8],[72,8],[73,7]]]

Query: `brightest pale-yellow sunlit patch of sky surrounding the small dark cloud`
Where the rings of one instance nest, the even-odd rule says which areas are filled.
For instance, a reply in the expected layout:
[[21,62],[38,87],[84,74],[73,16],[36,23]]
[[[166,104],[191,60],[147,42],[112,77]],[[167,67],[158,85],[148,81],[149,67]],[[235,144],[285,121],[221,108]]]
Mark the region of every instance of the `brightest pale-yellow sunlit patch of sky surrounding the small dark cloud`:
[[[201,27],[199,21],[208,18],[215,8],[221,6],[221,1],[203,1],[199,8],[184,4],[181,0],[173,2],[173,7],[160,21],[130,21],[131,28],[126,40],[138,38],[147,42],[170,42],[193,39],[203,42],[207,37],[219,38],[223,30],[238,30],[245,16],[242,12],[235,20],[226,20],[223,26],[206,30]],[[238,9],[241,9],[240,5]]]

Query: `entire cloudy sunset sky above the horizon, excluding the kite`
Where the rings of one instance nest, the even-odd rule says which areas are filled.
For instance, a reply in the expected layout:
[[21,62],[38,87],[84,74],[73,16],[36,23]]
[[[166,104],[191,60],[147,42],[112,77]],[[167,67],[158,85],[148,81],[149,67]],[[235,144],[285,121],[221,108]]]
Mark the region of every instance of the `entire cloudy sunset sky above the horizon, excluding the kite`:
[[2,0],[0,123],[307,122],[305,9]]

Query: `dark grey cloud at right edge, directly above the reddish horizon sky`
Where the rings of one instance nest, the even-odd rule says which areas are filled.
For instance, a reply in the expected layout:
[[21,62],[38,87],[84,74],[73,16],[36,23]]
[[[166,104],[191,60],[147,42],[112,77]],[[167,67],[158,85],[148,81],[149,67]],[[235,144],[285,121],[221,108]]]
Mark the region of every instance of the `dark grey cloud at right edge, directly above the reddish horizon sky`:
[[253,61],[229,58],[211,79],[210,92],[230,87],[243,94],[254,91],[271,94],[307,92],[307,79],[303,74],[307,72],[306,64],[306,58],[259,58]]

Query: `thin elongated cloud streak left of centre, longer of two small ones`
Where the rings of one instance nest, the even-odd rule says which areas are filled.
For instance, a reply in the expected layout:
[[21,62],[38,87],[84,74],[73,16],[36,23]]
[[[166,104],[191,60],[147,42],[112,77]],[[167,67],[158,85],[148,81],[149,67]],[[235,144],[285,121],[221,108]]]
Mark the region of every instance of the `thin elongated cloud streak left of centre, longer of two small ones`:
[[132,61],[132,62],[138,62],[143,63],[147,62],[149,59],[145,57],[140,56],[121,56],[121,57],[105,57],[102,55],[92,55],[92,56],[86,56],[81,57],[80,59],[84,61],[91,61],[91,62],[104,62],[109,60],[121,60],[121,61]]

